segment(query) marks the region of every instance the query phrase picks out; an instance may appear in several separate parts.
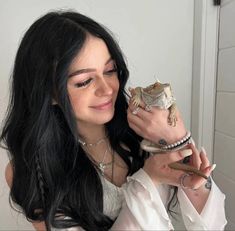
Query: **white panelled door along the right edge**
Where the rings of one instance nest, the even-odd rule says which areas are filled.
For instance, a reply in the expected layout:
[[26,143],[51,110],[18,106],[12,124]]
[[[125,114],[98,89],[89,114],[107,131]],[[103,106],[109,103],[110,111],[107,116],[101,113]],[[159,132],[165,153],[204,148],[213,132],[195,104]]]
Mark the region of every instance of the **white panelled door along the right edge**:
[[235,0],[220,8],[214,179],[226,194],[226,230],[235,230]]

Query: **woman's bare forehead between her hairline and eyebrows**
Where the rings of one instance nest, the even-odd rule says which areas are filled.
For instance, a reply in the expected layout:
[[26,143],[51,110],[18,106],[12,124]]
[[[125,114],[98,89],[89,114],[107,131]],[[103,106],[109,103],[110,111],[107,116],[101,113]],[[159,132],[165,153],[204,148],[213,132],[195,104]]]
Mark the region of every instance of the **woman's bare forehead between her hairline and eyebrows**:
[[87,36],[86,41],[70,65],[70,71],[77,68],[99,68],[110,58],[105,42],[94,36]]

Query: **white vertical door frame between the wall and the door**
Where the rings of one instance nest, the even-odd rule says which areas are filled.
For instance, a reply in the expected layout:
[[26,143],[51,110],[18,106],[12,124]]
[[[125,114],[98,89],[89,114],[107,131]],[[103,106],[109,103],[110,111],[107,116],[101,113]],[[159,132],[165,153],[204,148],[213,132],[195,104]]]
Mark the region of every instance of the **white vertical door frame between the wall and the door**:
[[213,161],[220,6],[194,0],[191,132]]

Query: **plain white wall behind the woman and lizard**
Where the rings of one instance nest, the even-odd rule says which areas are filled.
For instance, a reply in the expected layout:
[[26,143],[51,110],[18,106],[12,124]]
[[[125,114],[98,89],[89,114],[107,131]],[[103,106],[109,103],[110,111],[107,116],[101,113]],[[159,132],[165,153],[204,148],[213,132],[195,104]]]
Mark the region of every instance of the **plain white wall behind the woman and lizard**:
[[[190,128],[194,0],[0,1],[0,120],[20,38],[36,18],[60,8],[76,9],[114,32],[128,60],[129,85],[145,86],[156,78],[171,82]],[[0,149],[0,230],[31,229],[8,206],[7,161],[6,152]]]

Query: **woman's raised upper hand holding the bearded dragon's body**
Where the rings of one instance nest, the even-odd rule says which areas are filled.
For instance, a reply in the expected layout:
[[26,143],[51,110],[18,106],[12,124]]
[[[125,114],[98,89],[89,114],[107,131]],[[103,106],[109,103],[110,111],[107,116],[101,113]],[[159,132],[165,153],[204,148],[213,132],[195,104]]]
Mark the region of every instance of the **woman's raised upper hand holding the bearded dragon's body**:
[[127,110],[129,126],[144,139],[153,143],[158,143],[160,139],[166,140],[167,143],[174,143],[186,135],[186,129],[178,109],[176,109],[176,126],[173,127],[167,121],[169,110],[152,107],[151,111],[145,111],[144,108],[145,104],[141,102],[137,113],[133,114],[136,107],[130,101]]

